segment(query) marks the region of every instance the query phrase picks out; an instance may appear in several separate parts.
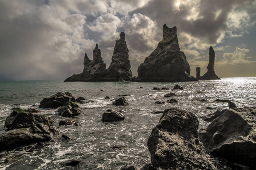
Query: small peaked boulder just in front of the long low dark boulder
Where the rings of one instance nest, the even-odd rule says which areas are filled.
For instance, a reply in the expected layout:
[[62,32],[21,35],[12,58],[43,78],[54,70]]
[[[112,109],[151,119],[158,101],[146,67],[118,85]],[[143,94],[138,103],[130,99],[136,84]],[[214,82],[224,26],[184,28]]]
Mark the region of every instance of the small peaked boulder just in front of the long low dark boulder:
[[67,103],[65,103],[63,107],[57,110],[57,112],[59,112],[60,116],[63,117],[73,117],[82,114],[79,105],[75,104],[73,101],[68,101]]

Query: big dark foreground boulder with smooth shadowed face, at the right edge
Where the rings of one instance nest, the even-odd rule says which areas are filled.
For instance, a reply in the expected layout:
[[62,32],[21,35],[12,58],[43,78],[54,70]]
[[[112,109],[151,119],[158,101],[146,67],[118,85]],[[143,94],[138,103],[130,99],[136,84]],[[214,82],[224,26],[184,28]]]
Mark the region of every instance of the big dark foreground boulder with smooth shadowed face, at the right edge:
[[201,142],[213,154],[255,169],[255,120],[256,107],[228,109],[200,133]]

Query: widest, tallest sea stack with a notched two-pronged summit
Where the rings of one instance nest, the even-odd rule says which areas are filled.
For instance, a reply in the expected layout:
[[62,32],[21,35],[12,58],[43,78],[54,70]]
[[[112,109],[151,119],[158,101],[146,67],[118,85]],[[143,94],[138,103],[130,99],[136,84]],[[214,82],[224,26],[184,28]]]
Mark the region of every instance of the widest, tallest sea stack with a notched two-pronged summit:
[[180,51],[177,28],[163,25],[163,40],[138,68],[139,82],[196,81],[190,75],[187,57]]

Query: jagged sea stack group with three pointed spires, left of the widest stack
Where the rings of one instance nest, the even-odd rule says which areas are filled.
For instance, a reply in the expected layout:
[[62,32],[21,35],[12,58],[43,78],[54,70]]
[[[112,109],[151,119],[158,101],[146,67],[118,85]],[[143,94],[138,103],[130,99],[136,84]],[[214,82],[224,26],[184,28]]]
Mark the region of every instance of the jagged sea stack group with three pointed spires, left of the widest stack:
[[125,33],[121,32],[120,39],[115,41],[112,62],[106,70],[106,64],[101,57],[101,50],[96,44],[93,50],[93,61],[85,54],[84,70],[81,74],[74,74],[65,79],[64,82],[118,82],[120,80],[130,80],[133,74],[131,73],[131,64],[129,60],[129,50],[125,41]]

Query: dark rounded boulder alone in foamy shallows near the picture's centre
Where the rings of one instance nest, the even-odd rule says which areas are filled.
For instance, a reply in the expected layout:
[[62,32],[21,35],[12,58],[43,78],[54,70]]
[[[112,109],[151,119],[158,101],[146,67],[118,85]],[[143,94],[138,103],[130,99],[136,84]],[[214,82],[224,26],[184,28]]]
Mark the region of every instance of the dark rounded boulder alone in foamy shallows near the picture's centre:
[[125,115],[123,115],[121,112],[115,111],[114,109],[108,109],[102,114],[103,122],[123,121],[124,119]]

